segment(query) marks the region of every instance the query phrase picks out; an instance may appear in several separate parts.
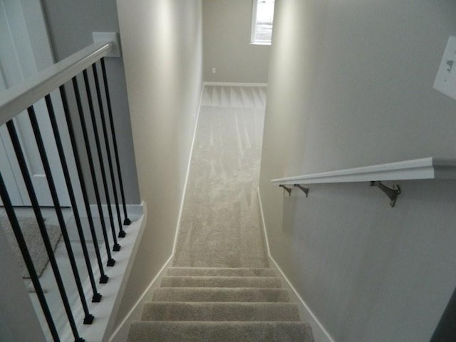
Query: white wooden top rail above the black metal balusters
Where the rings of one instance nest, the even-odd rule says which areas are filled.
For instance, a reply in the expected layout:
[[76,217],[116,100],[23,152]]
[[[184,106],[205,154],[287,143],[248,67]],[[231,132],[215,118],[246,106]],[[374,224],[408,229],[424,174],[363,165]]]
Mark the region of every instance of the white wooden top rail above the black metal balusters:
[[68,58],[44,69],[36,76],[0,93],[0,125],[25,110],[48,93],[68,82],[115,48],[112,42],[95,42]]

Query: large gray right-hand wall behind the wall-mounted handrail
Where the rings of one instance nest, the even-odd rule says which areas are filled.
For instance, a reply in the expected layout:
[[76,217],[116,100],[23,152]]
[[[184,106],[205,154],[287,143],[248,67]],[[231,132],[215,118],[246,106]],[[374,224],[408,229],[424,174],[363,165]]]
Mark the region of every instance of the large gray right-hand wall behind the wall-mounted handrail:
[[429,341],[456,286],[454,181],[291,197],[270,180],[455,156],[432,89],[453,1],[276,1],[260,192],[271,254],[335,341]]

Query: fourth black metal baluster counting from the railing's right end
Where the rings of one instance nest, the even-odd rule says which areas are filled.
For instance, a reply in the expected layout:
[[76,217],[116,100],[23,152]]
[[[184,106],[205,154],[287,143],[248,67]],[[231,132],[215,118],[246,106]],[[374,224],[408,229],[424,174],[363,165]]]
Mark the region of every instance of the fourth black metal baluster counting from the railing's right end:
[[84,118],[83,105],[81,103],[81,94],[79,93],[78,80],[76,76],[73,77],[73,88],[76,96],[76,104],[78,105],[79,118],[81,120],[81,128],[83,130],[84,145],[86,145],[86,152],[88,157],[88,165],[90,167],[90,174],[92,175],[93,190],[95,191],[95,198],[97,200],[98,212],[100,213],[101,230],[105,239],[106,253],[108,254],[108,266],[114,266],[115,260],[111,257],[109,248],[108,232],[106,232],[105,217],[103,215],[103,208],[101,207],[100,192],[98,192],[98,182],[95,173],[95,165],[93,165],[92,151],[90,148],[90,141],[88,140],[86,119]]

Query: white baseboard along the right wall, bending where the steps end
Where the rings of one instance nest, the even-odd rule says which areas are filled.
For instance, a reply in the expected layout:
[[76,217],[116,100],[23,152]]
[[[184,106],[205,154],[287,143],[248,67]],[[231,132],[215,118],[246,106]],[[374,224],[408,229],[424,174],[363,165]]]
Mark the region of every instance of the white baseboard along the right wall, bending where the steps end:
[[331,335],[326,331],[326,328],[318,321],[318,318],[315,314],[311,311],[309,306],[307,306],[304,299],[301,298],[298,291],[294,288],[293,284],[289,281],[289,279],[284,274],[284,271],[281,270],[280,266],[276,263],[275,259],[271,256],[271,250],[269,249],[269,241],[266,232],[266,222],[264,221],[264,212],[263,212],[263,203],[261,202],[261,194],[258,188],[258,199],[259,199],[259,209],[261,214],[261,224],[263,225],[264,230],[264,240],[266,241],[266,249],[269,260],[273,265],[273,268],[279,272],[282,284],[289,290],[289,294],[291,294],[291,301],[296,302],[298,304],[299,309],[299,316],[301,316],[301,321],[310,323],[312,327],[312,332],[314,333],[314,338],[316,342],[336,342]]

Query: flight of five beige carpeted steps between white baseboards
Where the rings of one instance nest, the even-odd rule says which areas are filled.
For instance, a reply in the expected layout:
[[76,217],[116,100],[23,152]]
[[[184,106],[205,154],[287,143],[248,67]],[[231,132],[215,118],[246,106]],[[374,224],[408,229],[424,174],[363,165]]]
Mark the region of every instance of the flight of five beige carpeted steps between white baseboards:
[[171,267],[128,342],[313,342],[273,269]]

